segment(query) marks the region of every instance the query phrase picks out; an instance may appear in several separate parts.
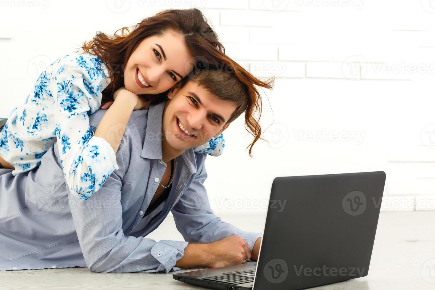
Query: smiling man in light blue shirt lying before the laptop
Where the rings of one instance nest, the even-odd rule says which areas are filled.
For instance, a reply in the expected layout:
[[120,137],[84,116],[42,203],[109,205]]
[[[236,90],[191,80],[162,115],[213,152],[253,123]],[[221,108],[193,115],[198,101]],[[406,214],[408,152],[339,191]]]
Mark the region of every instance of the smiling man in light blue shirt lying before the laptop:
[[[203,185],[207,155],[193,151],[244,112],[252,90],[231,73],[211,70],[206,79],[186,78],[166,102],[133,112],[119,169],[88,200],[67,193],[56,144],[39,168],[16,177],[0,169],[0,270],[167,273],[256,260],[261,234],[214,215]],[[90,115],[94,130],[104,113]],[[185,241],[147,239],[170,210]]]

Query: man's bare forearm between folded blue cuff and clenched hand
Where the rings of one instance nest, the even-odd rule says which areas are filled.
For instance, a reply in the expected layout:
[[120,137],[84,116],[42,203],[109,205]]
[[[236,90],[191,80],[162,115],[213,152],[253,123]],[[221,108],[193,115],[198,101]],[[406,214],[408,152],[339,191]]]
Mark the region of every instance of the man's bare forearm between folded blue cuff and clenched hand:
[[188,243],[183,257],[177,261],[175,266],[181,268],[208,267],[210,258],[207,243]]

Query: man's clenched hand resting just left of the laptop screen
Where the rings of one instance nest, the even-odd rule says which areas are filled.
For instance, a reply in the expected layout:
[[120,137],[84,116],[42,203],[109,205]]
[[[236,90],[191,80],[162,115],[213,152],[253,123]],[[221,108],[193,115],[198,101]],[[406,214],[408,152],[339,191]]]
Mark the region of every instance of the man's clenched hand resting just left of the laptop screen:
[[240,236],[224,237],[208,244],[211,259],[207,267],[218,268],[234,266],[243,263],[243,260],[251,258],[251,250],[248,243]]

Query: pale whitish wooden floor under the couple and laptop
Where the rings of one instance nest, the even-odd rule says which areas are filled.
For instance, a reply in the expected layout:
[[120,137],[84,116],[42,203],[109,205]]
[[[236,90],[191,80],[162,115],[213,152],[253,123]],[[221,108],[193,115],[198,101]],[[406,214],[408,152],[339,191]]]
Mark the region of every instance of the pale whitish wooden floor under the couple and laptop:
[[[262,216],[225,216],[239,228],[262,232]],[[382,212],[367,277],[311,289],[435,289],[435,211]],[[149,236],[182,240],[168,217]],[[430,272],[432,271],[432,272]],[[205,289],[172,279],[172,273],[93,273],[87,268],[0,272],[0,289]]]

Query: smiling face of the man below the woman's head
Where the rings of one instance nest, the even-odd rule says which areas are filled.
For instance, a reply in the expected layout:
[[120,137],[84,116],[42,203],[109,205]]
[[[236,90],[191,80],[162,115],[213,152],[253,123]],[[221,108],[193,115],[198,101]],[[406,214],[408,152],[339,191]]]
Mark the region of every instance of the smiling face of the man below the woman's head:
[[234,102],[219,99],[194,81],[171,90],[168,98],[162,130],[167,143],[182,152],[218,137],[236,110]]

